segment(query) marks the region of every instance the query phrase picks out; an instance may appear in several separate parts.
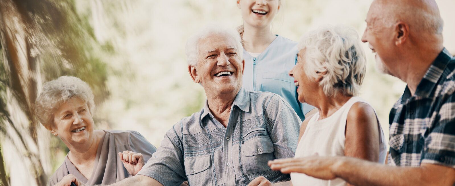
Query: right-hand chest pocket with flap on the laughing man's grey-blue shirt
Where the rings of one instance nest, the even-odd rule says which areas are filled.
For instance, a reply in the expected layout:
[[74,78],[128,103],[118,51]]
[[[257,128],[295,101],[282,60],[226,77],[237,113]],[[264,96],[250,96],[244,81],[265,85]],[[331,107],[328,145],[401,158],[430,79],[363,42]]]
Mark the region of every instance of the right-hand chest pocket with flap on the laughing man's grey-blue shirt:
[[247,135],[243,136],[241,148],[240,166],[243,175],[250,181],[255,178],[256,174],[254,173],[270,170],[267,162],[275,159],[273,154],[275,148],[265,129],[248,132]]

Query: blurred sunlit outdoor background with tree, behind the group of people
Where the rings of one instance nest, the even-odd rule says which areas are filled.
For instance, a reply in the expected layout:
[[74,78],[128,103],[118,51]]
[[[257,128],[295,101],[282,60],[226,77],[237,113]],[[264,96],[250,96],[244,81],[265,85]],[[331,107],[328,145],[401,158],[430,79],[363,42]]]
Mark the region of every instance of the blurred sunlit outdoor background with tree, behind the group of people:
[[[372,0],[282,0],[273,33],[298,41],[324,24],[354,27],[359,38]],[[186,39],[210,22],[242,24],[235,0],[0,0],[0,182],[44,185],[68,149],[32,112],[42,83],[73,75],[96,96],[97,129],[136,130],[156,147],[205,101],[185,61]],[[455,54],[454,0],[436,0],[444,45]],[[405,84],[379,74],[367,53],[361,97],[384,133]],[[388,139],[388,135],[387,139]]]

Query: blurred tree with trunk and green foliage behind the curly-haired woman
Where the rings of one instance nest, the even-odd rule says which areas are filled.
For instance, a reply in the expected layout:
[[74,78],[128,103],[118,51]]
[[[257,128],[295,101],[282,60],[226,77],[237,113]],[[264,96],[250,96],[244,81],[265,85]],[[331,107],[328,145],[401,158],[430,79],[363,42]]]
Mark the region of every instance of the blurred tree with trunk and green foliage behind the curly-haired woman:
[[[12,144],[2,145],[3,155],[20,155],[16,161],[5,161],[6,168],[0,166],[0,182],[12,184],[8,167],[25,160],[29,172],[22,175],[41,186],[52,171],[50,146],[62,144],[51,143],[35,117],[40,87],[61,75],[76,76],[89,83],[95,102],[102,102],[109,94],[106,64],[95,51],[106,47],[94,39],[87,16],[76,13],[74,0],[0,0],[0,4],[0,143]],[[1,162],[4,158],[0,156]]]

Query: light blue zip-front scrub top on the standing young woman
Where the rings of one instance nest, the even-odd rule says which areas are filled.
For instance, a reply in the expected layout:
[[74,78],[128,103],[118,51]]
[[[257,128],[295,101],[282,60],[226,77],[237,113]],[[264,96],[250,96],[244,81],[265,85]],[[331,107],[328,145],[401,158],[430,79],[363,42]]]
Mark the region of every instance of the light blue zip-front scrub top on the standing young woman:
[[294,78],[288,75],[289,70],[297,63],[297,42],[277,36],[256,58],[243,49],[243,87],[280,95],[303,121],[305,114],[314,107],[298,101]]

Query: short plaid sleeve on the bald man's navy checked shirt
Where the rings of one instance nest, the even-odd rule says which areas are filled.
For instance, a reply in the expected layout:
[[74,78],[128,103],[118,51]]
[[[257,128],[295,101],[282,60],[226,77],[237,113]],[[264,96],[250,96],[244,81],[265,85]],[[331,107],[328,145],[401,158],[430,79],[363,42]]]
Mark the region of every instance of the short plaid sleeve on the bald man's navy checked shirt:
[[436,122],[427,129],[422,163],[455,168],[455,96],[450,94],[444,100]]

